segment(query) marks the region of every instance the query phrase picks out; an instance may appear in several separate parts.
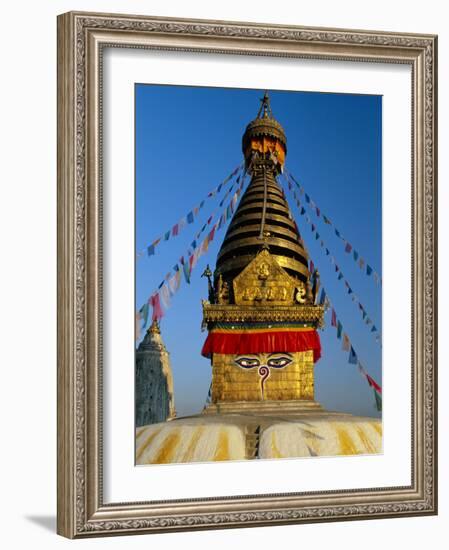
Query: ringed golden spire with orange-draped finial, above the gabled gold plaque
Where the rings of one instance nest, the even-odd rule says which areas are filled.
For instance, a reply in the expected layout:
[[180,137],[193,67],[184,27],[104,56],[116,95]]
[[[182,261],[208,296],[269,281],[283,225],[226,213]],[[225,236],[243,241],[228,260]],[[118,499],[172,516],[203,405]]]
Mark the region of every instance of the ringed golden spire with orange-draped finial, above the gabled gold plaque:
[[233,279],[266,248],[289,275],[307,283],[307,253],[276,180],[285,161],[286,142],[265,92],[256,119],[243,135],[243,153],[252,179],[219,251],[215,281],[221,277],[232,287]]

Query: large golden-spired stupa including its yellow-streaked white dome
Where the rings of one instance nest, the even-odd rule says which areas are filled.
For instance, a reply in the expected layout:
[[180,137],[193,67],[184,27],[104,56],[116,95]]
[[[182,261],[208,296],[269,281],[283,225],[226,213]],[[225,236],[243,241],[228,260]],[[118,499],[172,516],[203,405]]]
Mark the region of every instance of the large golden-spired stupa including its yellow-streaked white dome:
[[375,418],[326,411],[315,400],[321,356],[319,274],[277,182],[287,139],[265,93],[242,139],[251,181],[231,220],[208,300],[202,354],[211,398],[195,416],[138,428],[138,464],[372,454]]

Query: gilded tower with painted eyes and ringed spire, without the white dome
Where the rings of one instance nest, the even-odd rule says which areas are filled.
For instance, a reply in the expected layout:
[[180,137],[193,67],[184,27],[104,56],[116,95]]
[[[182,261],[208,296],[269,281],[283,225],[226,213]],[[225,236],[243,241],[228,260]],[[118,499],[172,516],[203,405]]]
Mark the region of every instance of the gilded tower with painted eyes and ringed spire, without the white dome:
[[[277,182],[287,154],[268,94],[242,139],[251,177],[219,251],[202,353],[212,366],[206,412],[313,406],[323,307],[308,257]],[[210,274],[211,275],[211,274]]]

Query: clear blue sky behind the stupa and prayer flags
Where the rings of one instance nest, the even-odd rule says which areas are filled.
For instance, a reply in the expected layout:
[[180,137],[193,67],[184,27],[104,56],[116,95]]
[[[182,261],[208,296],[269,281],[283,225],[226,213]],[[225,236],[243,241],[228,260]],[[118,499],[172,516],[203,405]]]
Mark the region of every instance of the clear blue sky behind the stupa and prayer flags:
[[[255,118],[263,90],[198,88],[137,84],[136,88],[136,250],[154,239],[196,206],[242,161],[241,138]],[[354,248],[381,275],[381,134],[382,98],[370,95],[314,92],[270,92],[275,118],[287,135],[287,169],[304,186]],[[156,289],[195,233],[218,207],[223,192],[206,201],[194,224],[161,243],[154,256],[136,262],[136,306]],[[363,321],[329,257],[312,236],[310,226],[286,196],[322,285],[368,373],[382,383],[381,348]],[[304,202],[304,201],[303,201]],[[366,276],[332,228],[309,212],[321,238],[346,280],[381,330],[381,289]],[[170,352],[179,415],[199,412],[211,380],[208,359],[200,351],[201,300],[207,283],[201,274],[215,267],[226,228],[216,233],[192,273],[183,280],[161,323]],[[321,240],[321,239],[320,239]],[[316,399],[330,410],[378,416],[372,390],[330,326],[320,331],[322,358],[315,366]]]

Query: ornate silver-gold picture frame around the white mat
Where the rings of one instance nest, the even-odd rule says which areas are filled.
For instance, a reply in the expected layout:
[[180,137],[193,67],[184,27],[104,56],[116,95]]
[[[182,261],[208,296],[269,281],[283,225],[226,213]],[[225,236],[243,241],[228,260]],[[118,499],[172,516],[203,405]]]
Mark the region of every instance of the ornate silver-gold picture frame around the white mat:
[[[403,64],[412,97],[411,484],[104,500],[105,48]],[[88,536],[437,513],[437,37],[70,12],[58,17],[58,533]]]

